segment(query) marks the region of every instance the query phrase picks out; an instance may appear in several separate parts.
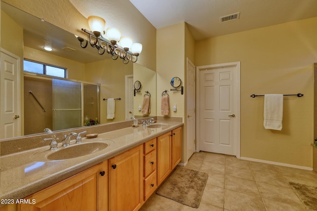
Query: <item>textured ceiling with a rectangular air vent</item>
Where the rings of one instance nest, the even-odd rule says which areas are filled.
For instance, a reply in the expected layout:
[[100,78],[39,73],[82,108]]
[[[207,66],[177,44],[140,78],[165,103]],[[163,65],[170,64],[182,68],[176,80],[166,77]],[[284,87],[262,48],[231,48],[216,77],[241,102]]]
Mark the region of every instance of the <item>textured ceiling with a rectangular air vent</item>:
[[[130,0],[158,29],[182,21],[195,40],[317,16],[317,0]],[[240,19],[219,17],[240,12]]]

